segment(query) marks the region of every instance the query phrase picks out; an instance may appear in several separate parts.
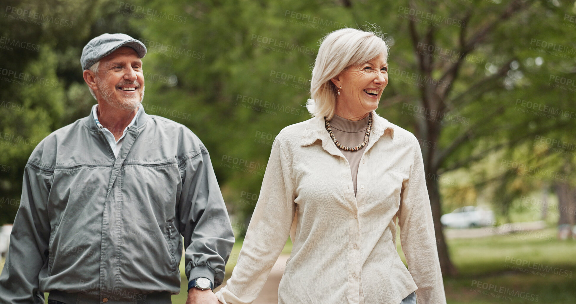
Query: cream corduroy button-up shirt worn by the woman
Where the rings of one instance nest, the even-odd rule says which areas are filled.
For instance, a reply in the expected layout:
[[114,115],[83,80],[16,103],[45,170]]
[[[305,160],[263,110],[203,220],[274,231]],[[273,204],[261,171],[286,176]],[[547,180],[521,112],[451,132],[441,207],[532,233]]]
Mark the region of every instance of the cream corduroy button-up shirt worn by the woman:
[[[416,137],[372,112],[354,196],[346,157],[323,117],[274,140],[262,190],[222,303],[252,303],[287,237],[278,302],[446,303],[422,152]],[[396,220],[410,271],[396,252]]]

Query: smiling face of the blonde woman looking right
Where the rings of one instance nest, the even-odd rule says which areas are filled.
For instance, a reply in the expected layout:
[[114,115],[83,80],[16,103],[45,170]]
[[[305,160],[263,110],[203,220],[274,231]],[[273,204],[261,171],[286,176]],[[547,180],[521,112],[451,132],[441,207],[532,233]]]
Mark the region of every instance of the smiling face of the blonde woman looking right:
[[388,63],[384,53],[372,60],[348,67],[332,82],[340,89],[336,99],[336,114],[358,120],[378,108],[382,91],[388,84]]

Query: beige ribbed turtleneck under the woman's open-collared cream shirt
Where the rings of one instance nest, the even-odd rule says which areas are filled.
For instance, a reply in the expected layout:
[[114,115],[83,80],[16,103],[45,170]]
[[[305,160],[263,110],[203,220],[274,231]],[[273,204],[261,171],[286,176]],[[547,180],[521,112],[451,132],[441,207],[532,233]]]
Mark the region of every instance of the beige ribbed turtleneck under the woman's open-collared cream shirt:
[[[340,142],[340,144],[346,147],[356,147],[362,143],[364,136],[366,135],[366,128],[368,127],[368,116],[366,118],[360,119],[359,121],[350,121],[346,118],[342,118],[334,114],[334,117],[332,117],[329,122],[332,133],[334,133],[334,136],[336,136],[336,139]],[[370,138],[368,138],[368,142],[370,142]],[[356,194],[358,165],[360,164],[360,159],[362,159],[364,149],[366,149],[366,147],[357,151],[344,151],[340,149],[340,152],[342,152],[344,157],[346,157],[348,160],[348,164],[350,164],[350,173],[352,174],[354,194]]]

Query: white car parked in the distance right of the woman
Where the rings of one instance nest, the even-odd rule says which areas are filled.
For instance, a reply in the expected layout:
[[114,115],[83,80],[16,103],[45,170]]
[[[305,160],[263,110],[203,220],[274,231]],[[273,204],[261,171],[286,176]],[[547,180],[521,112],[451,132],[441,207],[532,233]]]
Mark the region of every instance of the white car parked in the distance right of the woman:
[[440,217],[442,225],[451,228],[470,228],[492,226],[495,223],[494,212],[480,206],[460,207]]

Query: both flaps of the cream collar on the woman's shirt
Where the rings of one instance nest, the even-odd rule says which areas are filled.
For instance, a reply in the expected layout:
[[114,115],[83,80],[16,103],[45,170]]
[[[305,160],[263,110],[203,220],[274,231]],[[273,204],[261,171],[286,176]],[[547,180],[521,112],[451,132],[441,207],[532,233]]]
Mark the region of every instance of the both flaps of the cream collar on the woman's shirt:
[[[372,133],[371,136],[381,137],[384,134],[389,134],[394,139],[394,126],[388,119],[378,116],[376,111],[372,111]],[[306,129],[302,133],[302,147],[312,144],[316,140],[332,141],[324,124],[324,117],[314,117],[310,119],[306,125]]]

